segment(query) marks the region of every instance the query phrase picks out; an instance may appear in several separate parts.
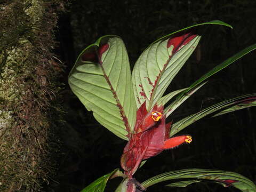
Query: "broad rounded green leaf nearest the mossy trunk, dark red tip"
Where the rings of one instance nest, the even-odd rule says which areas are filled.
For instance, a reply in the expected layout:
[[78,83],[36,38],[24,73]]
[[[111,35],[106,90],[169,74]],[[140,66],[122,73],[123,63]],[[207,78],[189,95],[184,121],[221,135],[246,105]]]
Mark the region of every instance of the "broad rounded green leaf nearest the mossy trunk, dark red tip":
[[136,118],[129,59],[118,36],[107,35],[84,49],[69,74],[69,85],[97,121],[128,140]]

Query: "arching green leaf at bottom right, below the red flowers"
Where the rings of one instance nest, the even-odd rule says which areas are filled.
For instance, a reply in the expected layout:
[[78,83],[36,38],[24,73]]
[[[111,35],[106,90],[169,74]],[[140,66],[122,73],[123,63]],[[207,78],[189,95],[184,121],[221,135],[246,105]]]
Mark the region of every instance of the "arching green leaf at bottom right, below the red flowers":
[[[144,181],[142,185],[147,188],[156,183],[174,179],[174,185],[177,187],[185,187],[193,182],[206,180],[220,183],[225,187],[233,186],[244,192],[256,191],[256,186],[254,183],[241,174],[229,171],[206,169],[186,169],[166,172]],[[177,182],[177,179],[186,181]]]

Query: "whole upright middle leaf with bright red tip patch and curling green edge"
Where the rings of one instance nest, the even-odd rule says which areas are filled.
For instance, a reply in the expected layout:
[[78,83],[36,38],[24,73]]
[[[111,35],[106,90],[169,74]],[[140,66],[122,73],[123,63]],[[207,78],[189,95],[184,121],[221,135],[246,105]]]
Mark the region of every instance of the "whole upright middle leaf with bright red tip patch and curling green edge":
[[190,28],[206,24],[231,27],[217,20],[200,23],[164,36],[142,52],[132,72],[137,108],[145,101],[147,101],[147,107],[151,108],[162,97],[167,86],[193,53],[201,38]]

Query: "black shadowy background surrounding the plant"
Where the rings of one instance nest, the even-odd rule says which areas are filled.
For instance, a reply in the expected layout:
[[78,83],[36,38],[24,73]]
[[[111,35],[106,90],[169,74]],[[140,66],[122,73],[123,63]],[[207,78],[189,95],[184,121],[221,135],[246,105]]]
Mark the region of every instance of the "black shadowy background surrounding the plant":
[[[129,53],[131,67],[140,53],[157,38],[175,30],[211,20],[234,27],[203,26],[200,47],[171,83],[170,91],[189,86],[204,73],[244,47],[256,43],[256,1],[73,1],[60,15],[55,52],[65,63],[66,89],[62,91],[66,113],[61,128],[63,147],[59,171],[45,191],[80,191],[95,179],[119,165],[126,144],[102,127],[86,111],[69,89],[68,73],[76,57],[100,36],[121,36]],[[201,54],[201,57],[199,57]],[[195,113],[225,99],[256,91],[255,51],[214,75],[171,119]],[[203,118],[182,133],[193,136],[191,145],[182,145],[150,158],[137,171],[140,181],[166,171],[203,168],[234,171],[256,181],[255,108],[235,111],[215,118]],[[169,119],[171,121],[171,119]],[[181,134],[182,134],[181,133]],[[109,182],[114,191],[120,180]],[[166,184],[166,183],[165,183]],[[155,190],[154,190],[155,189]],[[151,187],[148,191],[236,191],[217,184],[197,183],[188,188]]]

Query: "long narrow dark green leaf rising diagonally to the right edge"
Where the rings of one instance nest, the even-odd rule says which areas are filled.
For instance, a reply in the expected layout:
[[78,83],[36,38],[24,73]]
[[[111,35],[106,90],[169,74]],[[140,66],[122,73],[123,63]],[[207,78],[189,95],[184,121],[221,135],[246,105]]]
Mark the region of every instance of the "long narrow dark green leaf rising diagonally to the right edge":
[[[205,75],[203,75],[201,78],[199,78],[197,81],[195,81],[188,90],[182,92],[177,99],[175,99],[173,101],[173,103],[170,104],[170,106],[165,108],[165,114],[166,117],[168,117],[175,108],[173,108],[174,105],[177,105],[177,103],[180,103],[180,100],[182,100],[182,98],[187,97],[187,94],[189,92],[191,92],[192,90],[197,89],[198,86],[200,86],[203,82],[205,82],[209,77],[211,77],[212,75],[214,75],[215,73],[218,73],[220,70],[228,67],[230,64],[234,63],[236,60],[238,60],[239,58],[243,57],[244,55],[246,55],[247,53],[250,53],[251,51],[256,49],[256,44],[253,44],[251,46],[246,47],[245,49],[243,49],[242,51],[239,51],[238,53],[236,53],[235,55],[233,55],[232,57],[228,58],[227,60],[223,61],[222,63],[220,63],[218,66],[214,67],[212,70],[210,70],[208,73],[206,73]],[[180,103],[181,104],[181,103]],[[176,107],[177,108],[177,107]]]

